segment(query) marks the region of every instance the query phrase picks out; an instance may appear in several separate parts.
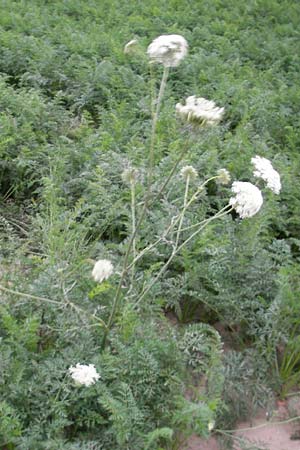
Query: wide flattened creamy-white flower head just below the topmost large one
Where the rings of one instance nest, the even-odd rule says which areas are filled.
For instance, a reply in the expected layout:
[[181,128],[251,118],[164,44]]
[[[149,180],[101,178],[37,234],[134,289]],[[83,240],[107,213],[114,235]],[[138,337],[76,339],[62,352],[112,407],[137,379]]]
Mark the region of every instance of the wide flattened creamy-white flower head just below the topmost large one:
[[195,95],[187,97],[185,105],[177,103],[176,111],[182,119],[200,126],[215,125],[224,114],[224,108],[218,108],[212,100]]

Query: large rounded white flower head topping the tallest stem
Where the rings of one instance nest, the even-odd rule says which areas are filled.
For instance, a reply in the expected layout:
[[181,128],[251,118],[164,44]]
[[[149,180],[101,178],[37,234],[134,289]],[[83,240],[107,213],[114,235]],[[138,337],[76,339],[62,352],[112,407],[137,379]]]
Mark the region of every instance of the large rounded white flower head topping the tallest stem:
[[188,43],[179,34],[163,34],[149,45],[147,54],[155,62],[165,67],[176,67],[186,56]]

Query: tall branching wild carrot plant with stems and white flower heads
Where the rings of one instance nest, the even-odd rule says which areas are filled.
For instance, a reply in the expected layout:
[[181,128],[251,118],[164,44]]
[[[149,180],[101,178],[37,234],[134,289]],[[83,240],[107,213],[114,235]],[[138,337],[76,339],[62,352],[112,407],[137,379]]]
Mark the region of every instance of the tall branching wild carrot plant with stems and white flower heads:
[[[191,227],[183,227],[186,211],[198,199],[200,193],[205,189],[208,183],[213,180],[218,180],[220,183],[226,184],[230,181],[230,175],[228,171],[226,169],[220,169],[216,175],[208,178],[198,186],[196,191],[190,193],[190,181],[197,178],[197,171],[192,166],[184,166],[180,171],[183,182],[185,182],[181,212],[171,218],[171,222],[168,224],[165,230],[162,230],[161,235],[157,236],[157,240],[155,242],[149,243],[149,245],[144,249],[142,248],[139,249],[139,251],[137,250],[139,229],[143,221],[147,220],[149,211],[151,210],[151,207],[153,207],[155,202],[160,200],[160,197],[163,195],[164,190],[166,189],[172,176],[175,174],[176,169],[183,157],[187,157],[186,154],[180,155],[175,165],[171,169],[169,177],[166,180],[162,180],[161,187],[158,190],[158,194],[153,194],[152,182],[155,160],[156,129],[159,121],[159,113],[163,101],[163,95],[166,89],[170,68],[176,67],[186,56],[187,48],[188,45],[186,40],[182,36],[178,35],[162,35],[155,39],[148,47],[147,53],[150,58],[150,64],[162,64],[164,69],[158,96],[153,100],[154,111],[152,114],[151,135],[149,139],[146,191],[144,199],[142,201],[141,210],[138,211],[136,208],[135,193],[138,170],[132,168],[127,169],[125,172],[123,172],[122,178],[124,181],[126,181],[126,183],[129,184],[131,192],[131,235],[127,244],[124,261],[123,263],[121,263],[122,269],[120,280],[118,282],[116,294],[112,301],[110,316],[104,329],[102,349],[104,349],[107,344],[107,337],[118,313],[120,300],[122,299],[123,303],[126,302],[126,300],[128,300],[128,293],[133,288],[133,284],[135,282],[136,264],[149,250],[154,249],[162,240],[170,238],[171,236],[170,245],[172,249],[170,256],[168,257],[167,261],[161,266],[154,278],[148,284],[142,287],[142,290],[136,294],[135,298],[130,298],[130,302],[132,303],[134,308],[138,308],[141,305],[143,299],[151,291],[151,288],[155,285],[155,283],[166,272],[175,256],[179,254],[180,251],[212,221],[229,214],[233,209],[236,210],[241,218],[249,218],[255,215],[260,210],[263,204],[263,197],[258,187],[251,184],[250,182],[236,181],[232,185],[232,192],[236,194],[236,196],[231,197],[227,205],[225,205],[213,216],[203,219],[201,222],[193,224]],[[196,96],[190,96],[186,99],[185,105],[181,105],[180,103],[176,105],[176,112],[182,120],[191,124],[194,128],[201,128],[217,125],[223,118],[224,108],[217,107],[213,101],[209,101],[204,98],[197,98]],[[276,184],[276,193],[279,193],[280,176],[278,172],[274,171],[270,161],[266,158],[260,158],[259,156],[257,156],[256,159],[253,159],[253,163],[256,168],[254,175],[256,177],[261,177],[265,181],[267,181],[268,186],[270,185],[272,190],[273,186]],[[190,233],[187,233],[188,231],[190,231]],[[127,276],[130,270],[131,279],[129,281],[127,280]],[[125,293],[123,295],[122,288],[124,288],[124,284],[128,284],[128,293]]]

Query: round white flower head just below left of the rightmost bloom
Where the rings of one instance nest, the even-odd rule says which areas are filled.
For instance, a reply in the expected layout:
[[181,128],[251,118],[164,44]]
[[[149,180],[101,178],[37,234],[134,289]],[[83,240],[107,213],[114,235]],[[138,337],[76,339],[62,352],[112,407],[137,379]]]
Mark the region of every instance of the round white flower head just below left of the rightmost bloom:
[[230,198],[229,204],[234,207],[242,219],[252,217],[260,210],[263,197],[254,184],[247,181],[235,181],[231,190],[236,196]]

